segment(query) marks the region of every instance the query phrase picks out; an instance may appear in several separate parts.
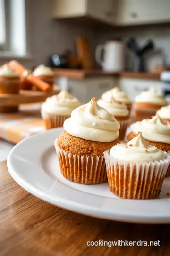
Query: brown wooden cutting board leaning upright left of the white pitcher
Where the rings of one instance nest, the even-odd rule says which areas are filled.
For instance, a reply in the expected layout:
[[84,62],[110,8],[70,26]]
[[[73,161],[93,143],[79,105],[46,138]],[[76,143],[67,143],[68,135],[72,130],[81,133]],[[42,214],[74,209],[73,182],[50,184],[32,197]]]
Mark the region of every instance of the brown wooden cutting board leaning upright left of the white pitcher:
[[90,48],[90,42],[87,37],[77,36],[76,47],[78,61],[83,69],[93,69],[93,57]]

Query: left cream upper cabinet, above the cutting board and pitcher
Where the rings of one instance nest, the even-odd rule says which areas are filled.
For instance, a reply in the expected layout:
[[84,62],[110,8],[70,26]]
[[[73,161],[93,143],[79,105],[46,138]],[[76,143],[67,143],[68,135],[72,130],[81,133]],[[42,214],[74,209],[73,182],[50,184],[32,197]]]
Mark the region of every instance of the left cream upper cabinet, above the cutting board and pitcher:
[[114,24],[118,0],[55,0],[53,17],[86,17]]

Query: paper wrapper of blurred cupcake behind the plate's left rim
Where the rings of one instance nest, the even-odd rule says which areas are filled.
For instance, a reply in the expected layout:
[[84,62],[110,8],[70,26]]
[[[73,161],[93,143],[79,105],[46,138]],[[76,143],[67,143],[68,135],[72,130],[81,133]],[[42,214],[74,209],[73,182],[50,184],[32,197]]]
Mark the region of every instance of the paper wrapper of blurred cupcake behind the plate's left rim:
[[57,115],[51,115],[45,112],[41,112],[42,114],[42,119],[45,124],[45,128],[47,130],[52,129],[52,128],[57,128],[57,127],[63,127],[64,121],[68,118],[69,116],[57,116]]

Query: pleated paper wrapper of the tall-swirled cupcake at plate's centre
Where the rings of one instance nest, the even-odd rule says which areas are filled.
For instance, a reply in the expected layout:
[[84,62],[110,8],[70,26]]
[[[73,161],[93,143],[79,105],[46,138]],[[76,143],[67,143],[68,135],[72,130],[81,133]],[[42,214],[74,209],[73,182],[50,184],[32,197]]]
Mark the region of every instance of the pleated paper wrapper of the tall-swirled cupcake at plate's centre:
[[68,153],[54,143],[59,159],[61,174],[71,182],[100,184],[107,181],[104,156],[86,156]]

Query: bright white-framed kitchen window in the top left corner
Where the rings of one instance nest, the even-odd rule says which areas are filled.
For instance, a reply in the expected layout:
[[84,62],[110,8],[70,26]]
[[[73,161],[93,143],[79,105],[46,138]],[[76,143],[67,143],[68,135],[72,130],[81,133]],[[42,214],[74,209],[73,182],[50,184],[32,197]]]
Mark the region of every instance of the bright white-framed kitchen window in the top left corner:
[[0,0],[0,57],[26,57],[26,3]]

